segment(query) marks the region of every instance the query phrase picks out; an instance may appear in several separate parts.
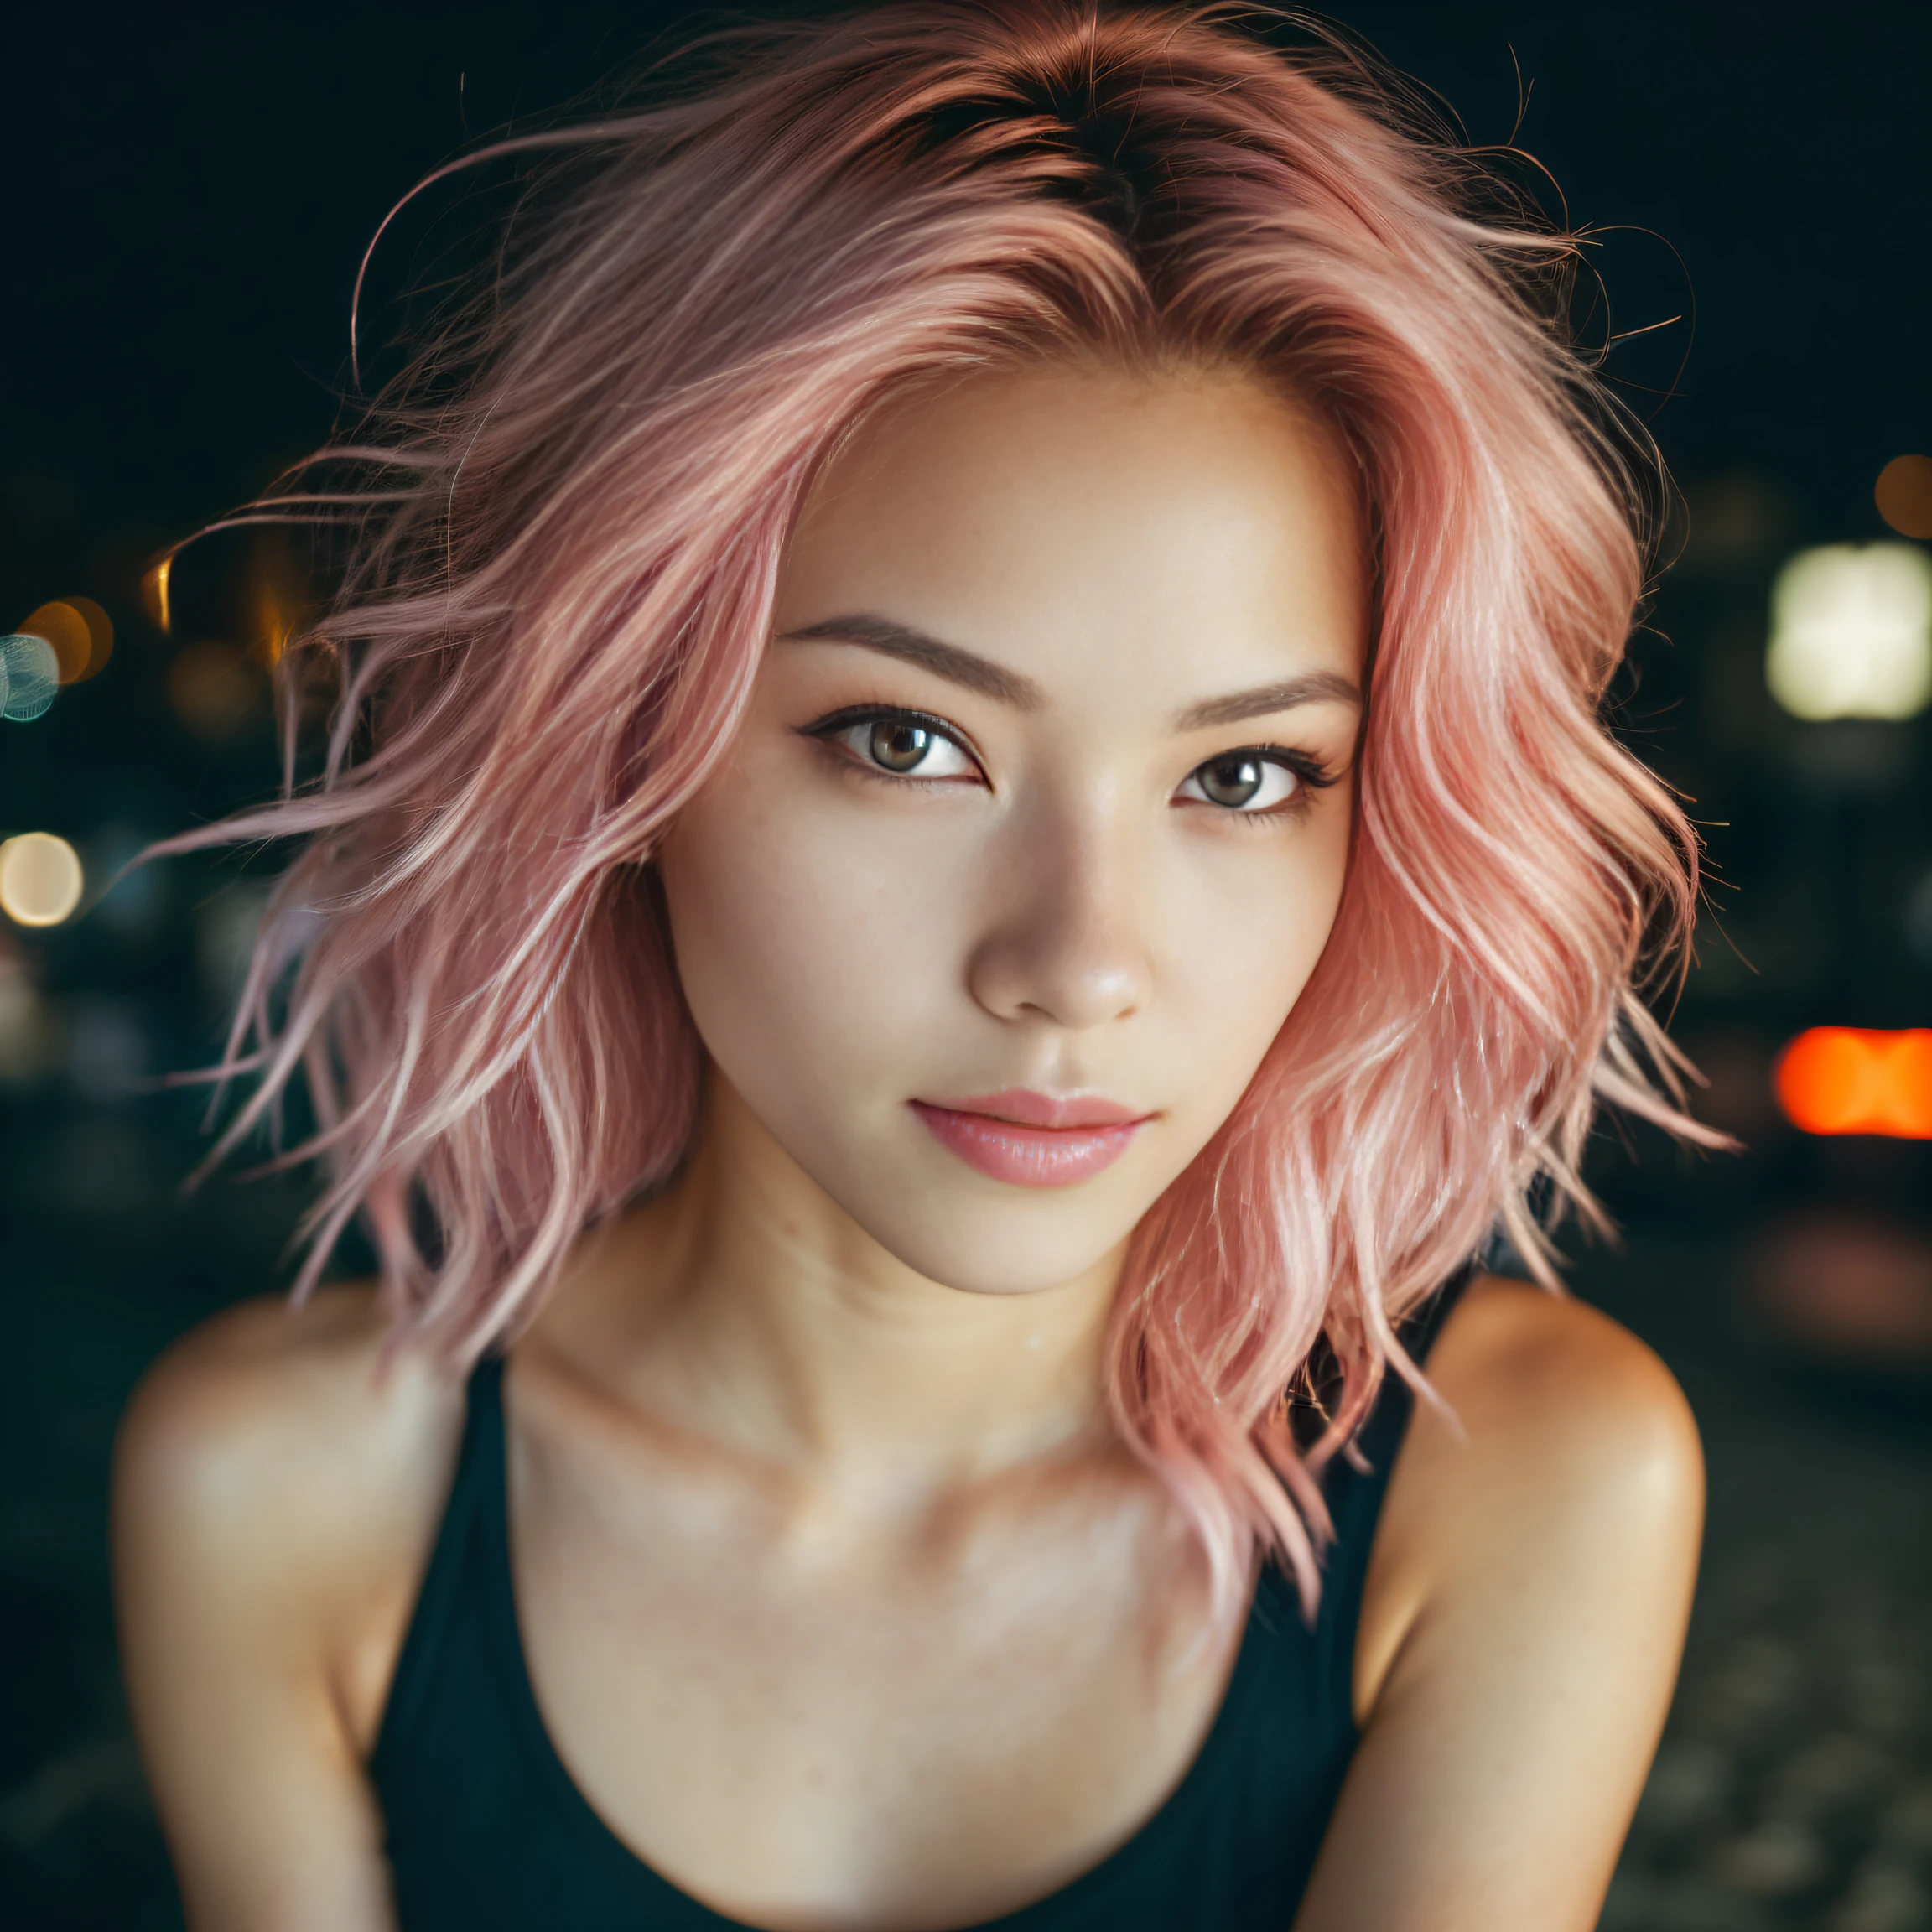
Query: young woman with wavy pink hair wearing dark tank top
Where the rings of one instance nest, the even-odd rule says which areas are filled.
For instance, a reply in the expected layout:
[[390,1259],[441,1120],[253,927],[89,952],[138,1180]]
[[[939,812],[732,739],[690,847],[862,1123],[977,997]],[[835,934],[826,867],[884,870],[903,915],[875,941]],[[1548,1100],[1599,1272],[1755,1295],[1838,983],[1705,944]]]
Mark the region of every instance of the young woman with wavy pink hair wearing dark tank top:
[[1569,243],[1200,10],[574,139],[261,510],[357,522],[230,1065],[383,1281],[124,1430],[191,1922],[1592,1924],[1696,1437],[1472,1256],[1692,1130],[1694,848]]

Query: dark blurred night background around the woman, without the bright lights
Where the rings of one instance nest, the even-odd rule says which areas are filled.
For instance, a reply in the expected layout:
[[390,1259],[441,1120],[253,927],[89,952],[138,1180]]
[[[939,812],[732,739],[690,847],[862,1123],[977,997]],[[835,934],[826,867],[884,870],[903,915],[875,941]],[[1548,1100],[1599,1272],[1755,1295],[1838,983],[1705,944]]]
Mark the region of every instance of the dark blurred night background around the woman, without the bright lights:
[[[174,638],[143,562],[328,433],[392,201],[674,12],[0,15],[0,628],[85,593],[118,632],[100,676],[0,721],[0,837],[56,831],[91,877],[68,925],[0,920],[4,1924],[178,1922],[114,1671],[108,1445],[172,1335],[288,1279],[301,1204],[296,1180],[184,1198],[197,1103],[151,1088],[209,1053],[259,871],[184,860],[93,904],[147,838],[274,779],[249,655],[274,558],[184,564]],[[1627,1250],[1577,1244],[1580,1293],[1679,1372],[1712,1463],[1685,1683],[1605,1926],[1932,1926],[1932,1144],[1806,1138],[1770,1090],[1801,1026],[1932,1024],[1928,724],[1801,726],[1762,678],[1776,566],[1886,537],[1880,468],[1932,452],[1932,10],[1339,17],[1470,141],[1551,170],[1600,234],[1607,332],[1667,323],[1607,361],[1683,485],[1617,719],[1710,840],[1675,1032],[1750,1146],[1605,1132]],[[379,296],[473,193],[400,226]]]

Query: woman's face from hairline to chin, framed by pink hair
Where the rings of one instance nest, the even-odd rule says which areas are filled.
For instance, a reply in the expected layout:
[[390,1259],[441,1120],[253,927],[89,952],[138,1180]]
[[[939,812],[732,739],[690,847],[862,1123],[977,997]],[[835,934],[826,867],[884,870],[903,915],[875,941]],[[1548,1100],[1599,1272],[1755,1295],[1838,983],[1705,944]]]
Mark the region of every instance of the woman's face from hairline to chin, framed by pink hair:
[[715,1076],[900,1262],[1070,1281],[1229,1117],[1341,898],[1364,578],[1227,375],[981,377],[823,477],[661,866]]

